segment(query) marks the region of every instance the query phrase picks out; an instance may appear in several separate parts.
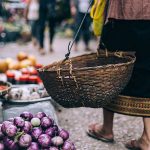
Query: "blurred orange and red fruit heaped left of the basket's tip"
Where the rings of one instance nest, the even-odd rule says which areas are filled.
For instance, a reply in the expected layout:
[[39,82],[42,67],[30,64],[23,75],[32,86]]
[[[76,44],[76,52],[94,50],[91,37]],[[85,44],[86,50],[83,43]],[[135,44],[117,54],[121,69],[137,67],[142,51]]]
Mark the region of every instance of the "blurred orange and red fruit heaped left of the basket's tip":
[[12,84],[41,84],[36,70],[40,67],[35,56],[25,52],[19,52],[16,59],[0,59],[0,75],[5,74],[6,81]]

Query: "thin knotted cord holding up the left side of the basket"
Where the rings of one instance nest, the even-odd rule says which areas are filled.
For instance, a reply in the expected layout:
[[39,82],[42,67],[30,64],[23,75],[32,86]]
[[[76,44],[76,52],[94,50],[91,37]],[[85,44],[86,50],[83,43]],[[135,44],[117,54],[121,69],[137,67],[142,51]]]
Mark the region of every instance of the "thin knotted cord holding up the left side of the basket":
[[68,44],[68,53],[65,55],[65,59],[63,60],[63,62],[65,62],[66,60],[69,59],[69,56],[70,56],[70,53],[71,53],[71,49],[72,49],[72,47],[73,47],[73,45],[74,45],[74,43],[75,43],[75,40],[76,40],[76,38],[77,38],[77,36],[78,36],[80,30],[81,30],[81,27],[82,27],[82,25],[83,25],[83,22],[85,21],[85,18],[86,18],[86,16],[87,16],[87,14],[89,13],[89,10],[90,10],[90,8],[91,8],[92,3],[93,3],[93,0],[90,0],[89,7],[88,7],[88,9],[87,9],[87,11],[86,11],[86,13],[85,13],[85,15],[84,15],[84,17],[83,17],[83,19],[82,19],[80,25],[79,25],[79,27],[78,27],[77,32],[76,32],[76,34],[75,34],[73,40],[70,41],[69,44]]

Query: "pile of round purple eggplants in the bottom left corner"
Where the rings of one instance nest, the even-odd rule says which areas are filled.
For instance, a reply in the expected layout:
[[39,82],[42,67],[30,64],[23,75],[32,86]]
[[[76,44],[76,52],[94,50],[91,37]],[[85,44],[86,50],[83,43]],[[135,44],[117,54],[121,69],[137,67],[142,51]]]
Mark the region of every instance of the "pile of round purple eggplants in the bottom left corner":
[[69,133],[44,112],[23,112],[0,124],[0,150],[76,150]]

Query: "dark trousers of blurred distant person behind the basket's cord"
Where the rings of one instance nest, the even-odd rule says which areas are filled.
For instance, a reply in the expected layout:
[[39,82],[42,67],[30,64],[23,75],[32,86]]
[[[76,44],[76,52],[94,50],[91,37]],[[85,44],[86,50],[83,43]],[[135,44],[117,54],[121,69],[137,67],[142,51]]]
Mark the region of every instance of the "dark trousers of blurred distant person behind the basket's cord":
[[[80,24],[81,24],[81,21],[84,17],[84,13],[81,13],[81,12],[78,12],[77,15],[76,15],[76,18],[75,18],[75,34],[76,34],[76,31],[77,29],[79,28]],[[75,40],[76,43],[79,42],[80,40],[80,37],[83,35],[83,40],[85,42],[86,45],[88,45],[89,41],[90,41],[90,38],[91,38],[91,33],[90,33],[90,25],[91,25],[91,18],[90,18],[90,15],[87,14],[84,22],[83,22],[83,25],[81,27],[81,30],[79,31],[79,34]]]

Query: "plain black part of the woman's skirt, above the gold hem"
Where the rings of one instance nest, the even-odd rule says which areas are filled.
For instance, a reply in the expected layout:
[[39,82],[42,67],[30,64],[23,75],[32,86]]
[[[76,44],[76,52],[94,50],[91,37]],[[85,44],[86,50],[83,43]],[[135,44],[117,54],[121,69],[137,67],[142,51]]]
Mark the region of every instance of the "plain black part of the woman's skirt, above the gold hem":
[[123,95],[150,98],[150,21],[110,20],[102,43],[110,51],[135,51],[136,62]]

